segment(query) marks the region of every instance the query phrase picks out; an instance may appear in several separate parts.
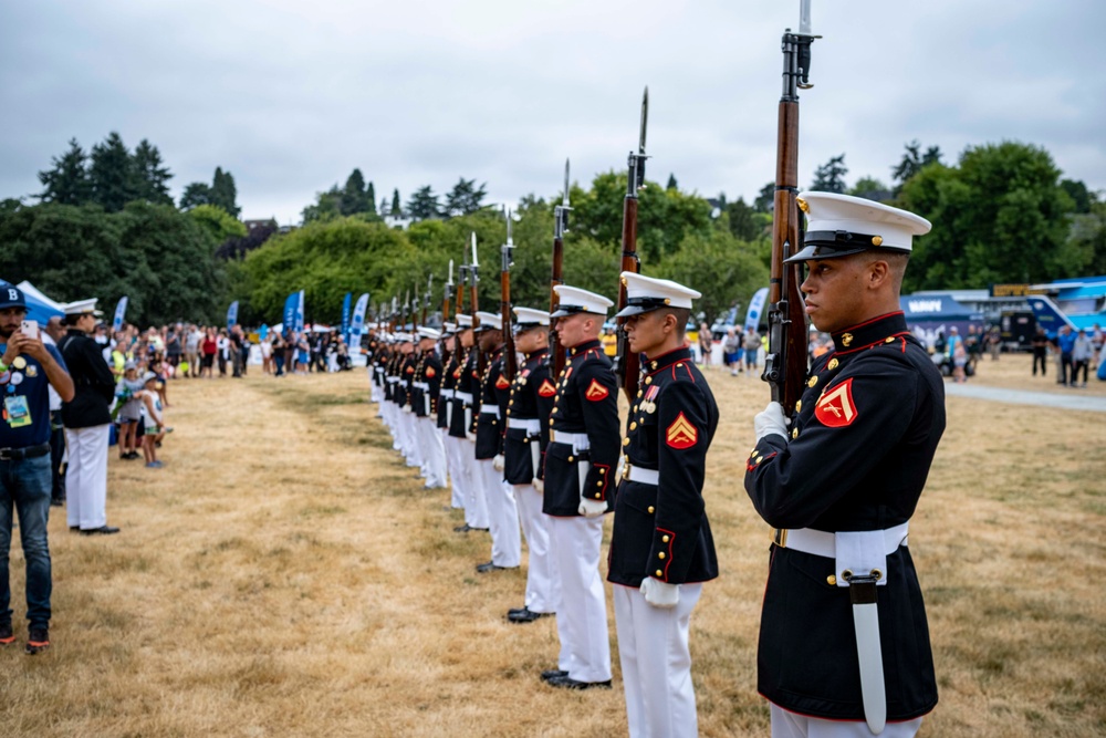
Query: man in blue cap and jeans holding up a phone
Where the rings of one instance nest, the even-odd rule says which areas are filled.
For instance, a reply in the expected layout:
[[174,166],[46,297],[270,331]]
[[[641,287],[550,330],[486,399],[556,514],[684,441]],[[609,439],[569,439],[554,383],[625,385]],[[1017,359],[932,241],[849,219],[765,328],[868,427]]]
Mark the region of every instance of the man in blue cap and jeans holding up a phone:
[[[50,471],[50,397],[48,386],[63,402],[73,398],[73,381],[61,354],[31,331],[23,293],[0,285],[0,647],[15,641],[11,626],[8,552],[12,509],[19,514],[20,539],[27,561],[27,653],[50,645],[50,547],[46,522],[53,486]],[[36,330],[36,329],[35,329]]]

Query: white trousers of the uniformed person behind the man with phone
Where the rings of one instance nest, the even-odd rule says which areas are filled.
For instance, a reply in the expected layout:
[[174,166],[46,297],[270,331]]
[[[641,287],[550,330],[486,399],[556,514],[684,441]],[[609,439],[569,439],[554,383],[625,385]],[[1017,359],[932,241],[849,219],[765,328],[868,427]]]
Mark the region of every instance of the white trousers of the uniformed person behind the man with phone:
[[111,426],[65,428],[69,468],[65,505],[70,528],[82,530],[107,524],[107,443]]

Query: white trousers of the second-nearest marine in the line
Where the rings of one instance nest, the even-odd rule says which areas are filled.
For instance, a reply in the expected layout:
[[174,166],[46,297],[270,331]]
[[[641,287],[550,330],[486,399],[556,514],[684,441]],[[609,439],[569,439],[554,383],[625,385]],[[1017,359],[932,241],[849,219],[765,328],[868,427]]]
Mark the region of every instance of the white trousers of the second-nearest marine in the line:
[[654,607],[640,590],[614,585],[618,657],[630,738],[698,736],[688,626],[702,584],[680,584],[680,601]]

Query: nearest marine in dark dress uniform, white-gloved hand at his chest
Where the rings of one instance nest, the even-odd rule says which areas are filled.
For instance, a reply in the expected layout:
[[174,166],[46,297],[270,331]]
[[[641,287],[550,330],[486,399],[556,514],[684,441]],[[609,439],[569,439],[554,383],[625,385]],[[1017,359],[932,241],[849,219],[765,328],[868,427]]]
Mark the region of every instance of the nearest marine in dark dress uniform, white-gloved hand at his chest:
[[[937,704],[926,609],[907,548],[945,429],[941,376],[898,310],[918,216],[811,193],[806,312],[833,352],[790,426],[754,419],[745,490],[774,528],[758,688],[775,736],[912,736]],[[865,721],[867,725],[865,725]]]

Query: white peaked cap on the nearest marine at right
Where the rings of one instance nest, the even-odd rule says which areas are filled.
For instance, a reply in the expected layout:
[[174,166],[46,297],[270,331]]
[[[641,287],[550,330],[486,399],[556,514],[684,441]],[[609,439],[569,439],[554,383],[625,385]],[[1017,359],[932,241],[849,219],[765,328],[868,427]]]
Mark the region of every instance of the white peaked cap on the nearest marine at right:
[[862,251],[910,253],[915,236],[932,228],[921,216],[860,197],[803,193],[799,208],[806,214],[803,250],[787,259],[834,259]]

